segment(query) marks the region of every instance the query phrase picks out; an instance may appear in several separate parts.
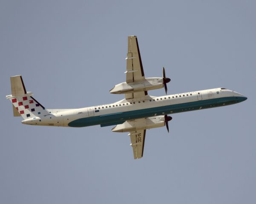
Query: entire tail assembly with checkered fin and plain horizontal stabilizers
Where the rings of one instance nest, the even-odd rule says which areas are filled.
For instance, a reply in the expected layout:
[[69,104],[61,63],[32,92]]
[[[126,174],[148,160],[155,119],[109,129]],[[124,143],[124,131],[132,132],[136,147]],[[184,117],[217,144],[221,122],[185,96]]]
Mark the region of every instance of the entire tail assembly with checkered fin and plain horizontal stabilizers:
[[24,120],[49,114],[33,96],[27,92],[21,75],[11,77],[12,95],[6,96],[12,102],[13,116],[22,116]]

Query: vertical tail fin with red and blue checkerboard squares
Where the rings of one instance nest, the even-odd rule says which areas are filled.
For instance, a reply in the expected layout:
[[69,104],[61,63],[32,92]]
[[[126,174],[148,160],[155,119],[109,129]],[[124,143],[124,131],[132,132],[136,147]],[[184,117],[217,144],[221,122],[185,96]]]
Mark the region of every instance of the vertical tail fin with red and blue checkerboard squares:
[[17,96],[15,98],[11,98],[10,101],[23,119],[29,119],[35,116],[40,117],[49,114],[47,110],[43,109],[30,96]]

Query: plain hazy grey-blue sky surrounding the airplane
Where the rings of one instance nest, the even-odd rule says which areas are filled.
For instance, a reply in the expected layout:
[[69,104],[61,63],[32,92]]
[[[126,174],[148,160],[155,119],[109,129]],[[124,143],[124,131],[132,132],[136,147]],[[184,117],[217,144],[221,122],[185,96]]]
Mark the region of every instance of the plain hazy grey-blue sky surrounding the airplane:
[[[256,201],[256,3],[248,1],[1,1],[0,203]],[[247,96],[173,114],[147,130],[134,160],[112,127],[37,127],[12,116],[10,76],[22,74],[46,108],[115,102],[127,36],[146,77],[166,69],[168,93],[224,87]],[[150,91],[164,95],[164,89]]]

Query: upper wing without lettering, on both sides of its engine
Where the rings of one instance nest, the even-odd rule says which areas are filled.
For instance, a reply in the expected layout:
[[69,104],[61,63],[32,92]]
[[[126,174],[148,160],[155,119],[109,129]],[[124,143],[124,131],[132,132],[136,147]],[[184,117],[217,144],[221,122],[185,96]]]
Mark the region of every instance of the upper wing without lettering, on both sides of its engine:
[[[145,77],[137,36],[128,36],[128,52],[126,62],[126,82],[143,81]],[[147,91],[125,94],[125,98],[134,99],[145,95],[147,95]]]

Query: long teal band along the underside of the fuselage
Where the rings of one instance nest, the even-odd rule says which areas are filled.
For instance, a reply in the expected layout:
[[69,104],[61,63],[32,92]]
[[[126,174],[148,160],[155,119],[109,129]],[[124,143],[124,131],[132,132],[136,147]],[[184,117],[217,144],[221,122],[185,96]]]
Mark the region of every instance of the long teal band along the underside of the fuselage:
[[112,114],[106,114],[101,116],[86,117],[86,118],[76,119],[72,122],[69,122],[68,125],[70,127],[86,127],[91,125],[101,125],[102,127],[104,127],[104,126],[107,126],[108,124],[117,125],[117,124],[121,124],[121,122],[132,120],[132,119],[152,117],[156,115],[180,113],[180,112],[186,112],[186,111],[195,111],[198,109],[205,109],[205,108],[214,108],[214,107],[239,103],[244,100],[246,100],[246,97],[237,97],[237,96],[208,99],[208,100],[187,102],[187,103],[181,103],[181,104],[159,106],[154,108],[146,108],[146,109],[140,109],[135,111],[126,111],[126,112],[112,113]]

